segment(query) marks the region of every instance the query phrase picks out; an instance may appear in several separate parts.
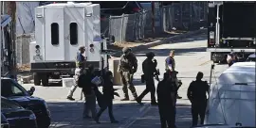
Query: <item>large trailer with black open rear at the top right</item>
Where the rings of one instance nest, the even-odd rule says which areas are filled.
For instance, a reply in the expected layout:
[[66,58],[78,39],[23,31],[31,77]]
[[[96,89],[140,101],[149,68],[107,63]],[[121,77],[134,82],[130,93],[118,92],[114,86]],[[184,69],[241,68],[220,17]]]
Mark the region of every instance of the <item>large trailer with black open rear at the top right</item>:
[[235,52],[239,61],[255,53],[256,2],[210,2],[208,48],[213,62],[226,61]]

